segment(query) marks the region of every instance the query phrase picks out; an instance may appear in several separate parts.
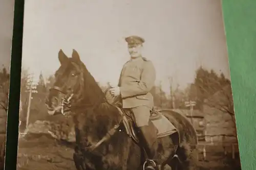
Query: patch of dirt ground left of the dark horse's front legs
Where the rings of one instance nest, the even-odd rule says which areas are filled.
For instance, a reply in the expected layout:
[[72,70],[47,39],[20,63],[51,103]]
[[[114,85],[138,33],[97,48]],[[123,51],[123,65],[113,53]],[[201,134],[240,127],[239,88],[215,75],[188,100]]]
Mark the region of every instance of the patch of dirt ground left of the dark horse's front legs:
[[17,157],[17,170],[76,169],[73,150],[47,135],[19,139]]

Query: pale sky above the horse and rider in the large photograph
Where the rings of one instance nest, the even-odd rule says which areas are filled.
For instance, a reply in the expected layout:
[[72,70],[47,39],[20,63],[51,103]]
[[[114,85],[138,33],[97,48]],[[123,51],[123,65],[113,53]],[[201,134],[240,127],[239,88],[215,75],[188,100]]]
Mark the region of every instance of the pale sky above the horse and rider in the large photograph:
[[230,77],[220,0],[26,0],[23,67],[47,78],[58,51],[71,57],[74,48],[96,81],[117,84],[130,35],[145,39],[143,57],[165,92],[169,77],[186,87],[200,65]]

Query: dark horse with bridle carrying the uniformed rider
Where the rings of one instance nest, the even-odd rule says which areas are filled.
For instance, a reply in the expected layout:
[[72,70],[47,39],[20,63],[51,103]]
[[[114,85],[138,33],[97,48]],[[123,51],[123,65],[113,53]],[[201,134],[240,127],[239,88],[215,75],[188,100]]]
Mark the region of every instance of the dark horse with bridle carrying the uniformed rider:
[[[56,81],[46,104],[51,115],[62,113],[73,117],[76,168],[142,169],[145,154],[134,138],[136,134],[127,135],[121,108],[106,100],[105,93],[75,50],[71,58],[60,50],[58,59],[61,66],[55,72]],[[104,70],[101,71],[103,74]],[[191,154],[197,148],[195,129],[177,112],[161,110],[159,113],[167,117],[177,132],[158,138],[158,168],[189,169]]]

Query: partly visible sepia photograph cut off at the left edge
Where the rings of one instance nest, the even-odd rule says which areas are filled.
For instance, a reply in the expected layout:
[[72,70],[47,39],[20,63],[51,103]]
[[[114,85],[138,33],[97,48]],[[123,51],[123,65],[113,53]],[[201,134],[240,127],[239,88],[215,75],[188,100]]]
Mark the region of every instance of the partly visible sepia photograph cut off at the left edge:
[[4,169],[14,0],[0,1],[0,169]]

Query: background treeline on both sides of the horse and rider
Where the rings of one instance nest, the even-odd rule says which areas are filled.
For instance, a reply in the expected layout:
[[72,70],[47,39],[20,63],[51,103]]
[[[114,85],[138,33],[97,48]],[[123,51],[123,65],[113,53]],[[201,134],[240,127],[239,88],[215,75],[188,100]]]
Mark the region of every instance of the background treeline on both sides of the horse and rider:
[[[22,100],[22,108],[23,108],[23,120],[26,120],[27,106],[28,106],[28,84],[29,84],[29,74],[28,71],[23,70],[22,74],[22,87],[21,87],[21,100]],[[48,95],[49,88],[54,83],[54,77],[50,76],[45,82],[43,75],[40,74],[39,82],[34,87],[34,93],[32,93],[31,100],[31,118],[30,121],[34,122],[36,119],[40,119],[40,117],[44,117],[47,115],[47,110],[45,107],[45,99]],[[179,88],[179,85],[171,84],[170,81],[170,94],[166,94],[161,86],[155,86],[151,90],[151,93],[154,96],[154,103],[156,107],[159,108],[169,108],[169,109],[188,109],[185,106],[186,101],[195,101],[197,104],[195,109],[202,109],[203,105],[209,104],[209,99],[211,96],[214,96],[215,93],[222,91],[222,93],[227,92],[226,95],[226,103],[222,101],[221,110],[232,111],[232,96],[231,95],[231,87],[230,81],[225,78],[223,74],[218,75],[214,70],[207,70],[203,67],[200,67],[196,70],[195,80],[192,84],[189,84],[185,89]],[[106,86],[101,86],[102,90],[105,90]],[[36,90],[36,91],[35,91]],[[211,107],[219,108],[219,99],[214,99],[211,101]],[[223,106],[225,103],[226,106]],[[230,107],[231,106],[231,107]],[[229,107],[229,108],[228,108]]]

